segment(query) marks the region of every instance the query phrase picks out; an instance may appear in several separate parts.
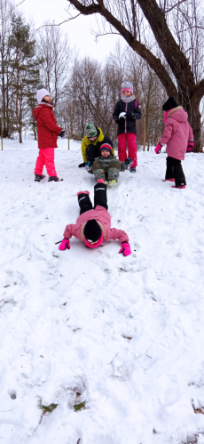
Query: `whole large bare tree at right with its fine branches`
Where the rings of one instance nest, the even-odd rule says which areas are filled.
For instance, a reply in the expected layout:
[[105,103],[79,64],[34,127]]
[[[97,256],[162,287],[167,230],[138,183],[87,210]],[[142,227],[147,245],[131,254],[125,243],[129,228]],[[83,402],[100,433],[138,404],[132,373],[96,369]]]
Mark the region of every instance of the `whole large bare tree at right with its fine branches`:
[[105,32],[116,32],[123,36],[130,48],[148,63],[161,80],[167,94],[174,96],[184,106],[192,125],[195,150],[201,151],[200,101],[204,95],[204,36],[200,1],[67,2],[83,15],[100,14],[110,26]]

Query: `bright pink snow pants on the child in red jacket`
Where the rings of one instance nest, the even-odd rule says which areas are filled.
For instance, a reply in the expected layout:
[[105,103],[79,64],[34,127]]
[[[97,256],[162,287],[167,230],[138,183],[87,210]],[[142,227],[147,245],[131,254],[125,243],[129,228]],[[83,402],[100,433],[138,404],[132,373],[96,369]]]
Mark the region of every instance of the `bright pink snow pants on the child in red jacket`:
[[36,159],[35,174],[43,174],[43,165],[46,166],[49,176],[57,176],[54,165],[54,149],[53,148],[41,148],[39,149],[39,155]]

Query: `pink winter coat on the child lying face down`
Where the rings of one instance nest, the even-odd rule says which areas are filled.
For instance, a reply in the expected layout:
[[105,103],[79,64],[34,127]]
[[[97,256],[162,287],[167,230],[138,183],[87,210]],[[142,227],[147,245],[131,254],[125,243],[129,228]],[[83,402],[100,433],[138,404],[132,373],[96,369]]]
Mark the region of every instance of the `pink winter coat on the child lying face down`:
[[104,240],[119,239],[121,244],[122,242],[129,241],[129,237],[125,231],[111,228],[111,216],[103,206],[96,206],[95,210],[86,211],[86,213],[81,214],[81,216],[76,219],[76,223],[70,223],[70,225],[67,225],[64,232],[64,238],[70,239],[72,236],[75,236],[75,238],[84,242],[84,226],[87,221],[90,221],[90,219],[95,219],[95,221],[99,223],[100,228],[103,231]]

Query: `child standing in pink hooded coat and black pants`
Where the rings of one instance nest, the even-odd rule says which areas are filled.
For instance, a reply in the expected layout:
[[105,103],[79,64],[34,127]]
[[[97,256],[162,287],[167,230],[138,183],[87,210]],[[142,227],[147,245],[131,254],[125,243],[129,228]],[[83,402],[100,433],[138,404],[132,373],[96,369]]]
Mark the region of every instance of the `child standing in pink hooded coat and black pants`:
[[154,149],[156,154],[161,147],[167,145],[167,170],[165,180],[175,182],[173,188],[183,189],[186,186],[181,160],[184,160],[186,149],[194,146],[192,127],[188,123],[188,115],[177,101],[169,97],[162,107],[164,111],[164,132],[161,141]]

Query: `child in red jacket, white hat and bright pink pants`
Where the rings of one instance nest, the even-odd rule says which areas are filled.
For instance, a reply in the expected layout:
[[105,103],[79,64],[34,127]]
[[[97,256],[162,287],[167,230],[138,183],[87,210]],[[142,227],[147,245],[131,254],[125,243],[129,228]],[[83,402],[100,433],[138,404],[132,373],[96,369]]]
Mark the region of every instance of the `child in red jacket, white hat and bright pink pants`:
[[37,123],[39,155],[35,165],[35,182],[40,182],[43,175],[43,165],[49,174],[48,182],[59,182],[54,165],[54,148],[58,148],[58,136],[63,137],[65,131],[56,124],[54,108],[51,104],[51,95],[43,85],[37,86],[36,99],[38,107],[33,110],[33,116]]

